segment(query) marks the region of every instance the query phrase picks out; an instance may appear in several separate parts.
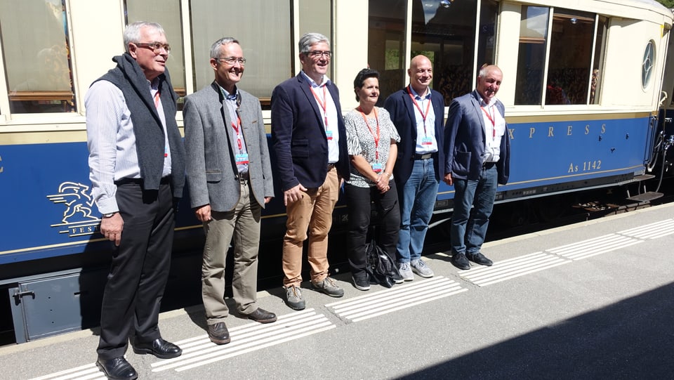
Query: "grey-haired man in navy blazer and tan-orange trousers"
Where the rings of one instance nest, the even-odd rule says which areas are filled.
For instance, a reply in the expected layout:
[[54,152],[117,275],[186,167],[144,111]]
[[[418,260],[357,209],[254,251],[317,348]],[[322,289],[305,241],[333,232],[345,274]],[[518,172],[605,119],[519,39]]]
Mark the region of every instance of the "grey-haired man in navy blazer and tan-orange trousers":
[[328,277],[327,251],[340,181],[349,178],[349,157],[339,92],[326,76],[330,42],[322,34],[307,33],[298,45],[302,71],[272,93],[272,146],[288,214],[283,239],[286,304],[302,310],[302,249],[307,239],[312,288],[333,297],[344,295]]

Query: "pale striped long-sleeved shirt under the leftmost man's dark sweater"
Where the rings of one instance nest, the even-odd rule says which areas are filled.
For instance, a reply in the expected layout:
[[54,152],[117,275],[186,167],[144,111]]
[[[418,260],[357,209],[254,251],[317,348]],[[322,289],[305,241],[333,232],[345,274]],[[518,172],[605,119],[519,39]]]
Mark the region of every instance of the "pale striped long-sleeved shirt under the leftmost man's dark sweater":
[[[158,79],[151,84],[154,99]],[[122,178],[140,178],[136,135],[133,133],[131,111],[126,106],[124,93],[110,81],[96,81],[84,97],[86,107],[86,136],[89,148],[89,179],[92,196],[101,214],[119,211],[114,181]],[[171,175],[171,150],[166,133],[166,118],[161,100],[157,98],[157,112],[164,127],[164,169],[161,176]]]

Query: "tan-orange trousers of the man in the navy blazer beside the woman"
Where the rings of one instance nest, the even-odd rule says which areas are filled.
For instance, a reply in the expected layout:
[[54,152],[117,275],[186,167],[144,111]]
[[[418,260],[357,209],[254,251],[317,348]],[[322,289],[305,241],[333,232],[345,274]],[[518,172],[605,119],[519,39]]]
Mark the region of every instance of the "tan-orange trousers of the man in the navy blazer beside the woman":
[[338,197],[339,178],[333,167],[326,174],[323,185],[308,189],[300,200],[286,207],[288,220],[283,237],[285,287],[299,287],[302,282],[302,249],[307,239],[312,282],[322,281],[328,276],[328,232]]

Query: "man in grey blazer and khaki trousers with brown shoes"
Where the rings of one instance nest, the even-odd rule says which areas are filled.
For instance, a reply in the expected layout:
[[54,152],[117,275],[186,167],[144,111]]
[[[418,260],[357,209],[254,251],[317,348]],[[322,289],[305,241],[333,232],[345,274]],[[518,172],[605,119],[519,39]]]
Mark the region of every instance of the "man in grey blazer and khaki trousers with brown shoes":
[[237,88],[246,65],[239,41],[216,41],[210,62],[216,79],[185,98],[183,117],[191,205],[206,232],[201,297],[209,338],[225,344],[225,261],[232,237],[238,313],[261,323],[276,320],[256,305],[260,214],[274,188],[260,101]]

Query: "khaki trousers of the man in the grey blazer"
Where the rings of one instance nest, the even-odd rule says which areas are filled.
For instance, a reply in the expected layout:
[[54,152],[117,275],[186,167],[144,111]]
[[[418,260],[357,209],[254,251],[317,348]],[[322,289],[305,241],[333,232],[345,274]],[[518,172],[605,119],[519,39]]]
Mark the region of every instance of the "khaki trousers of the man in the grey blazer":
[[[232,294],[237,311],[253,313],[258,307],[258,248],[261,207],[251,199],[248,181],[241,183],[239,203],[232,211],[211,211],[204,223],[206,244],[201,265],[201,299],[209,325],[223,322],[229,315],[225,304],[225,263],[230,243],[234,244]],[[232,241],[233,237],[233,241]]]

